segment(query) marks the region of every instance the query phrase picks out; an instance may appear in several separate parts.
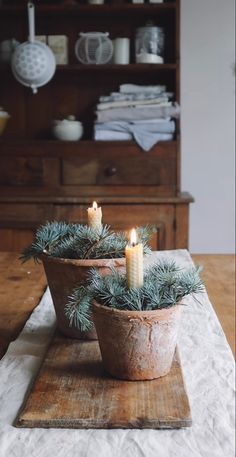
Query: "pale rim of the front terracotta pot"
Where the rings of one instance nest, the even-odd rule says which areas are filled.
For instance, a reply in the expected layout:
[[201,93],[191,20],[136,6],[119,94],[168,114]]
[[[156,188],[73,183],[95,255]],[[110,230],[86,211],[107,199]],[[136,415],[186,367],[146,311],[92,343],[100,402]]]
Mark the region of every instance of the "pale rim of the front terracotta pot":
[[166,314],[175,313],[177,310],[182,309],[182,300],[180,300],[173,306],[169,306],[168,308],[151,309],[145,311],[110,308],[109,306],[98,303],[96,300],[93,300],[92,307],[93,310],[98,310],[98,312],[101,314],[109,314],[113,315],[114,317],[124,319],[129,319],[130,317],[132,317],[143,320],[145,318],[152,318],[157,316],[164,317]]

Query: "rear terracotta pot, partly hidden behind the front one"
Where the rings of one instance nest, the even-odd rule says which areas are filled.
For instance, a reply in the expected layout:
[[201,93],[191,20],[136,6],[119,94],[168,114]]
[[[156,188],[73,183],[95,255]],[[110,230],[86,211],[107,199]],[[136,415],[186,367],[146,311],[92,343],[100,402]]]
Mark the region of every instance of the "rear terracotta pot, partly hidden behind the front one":
[[52,295],[59,330],[70,338],[97,339],[94,326],[88,332],[81,332],[76,327],[70,327],[69,320],[65,316],[65,305],[68,302],[68,296],[75,286],[87,279],[90,268],[98,268],[101,275],[107,275],[111,273],[111,267],[123,269],[125,259],[74,260],[42,255],[41,260]]

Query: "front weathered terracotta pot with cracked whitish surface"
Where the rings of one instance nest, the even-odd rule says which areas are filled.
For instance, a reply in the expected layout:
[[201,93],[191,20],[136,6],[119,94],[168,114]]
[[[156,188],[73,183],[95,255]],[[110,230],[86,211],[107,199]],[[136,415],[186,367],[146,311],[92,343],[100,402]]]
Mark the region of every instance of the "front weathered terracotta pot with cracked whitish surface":
[[121,311],[93,303],[104,368],[120,379],[165,376],[171,368],[182,306]]

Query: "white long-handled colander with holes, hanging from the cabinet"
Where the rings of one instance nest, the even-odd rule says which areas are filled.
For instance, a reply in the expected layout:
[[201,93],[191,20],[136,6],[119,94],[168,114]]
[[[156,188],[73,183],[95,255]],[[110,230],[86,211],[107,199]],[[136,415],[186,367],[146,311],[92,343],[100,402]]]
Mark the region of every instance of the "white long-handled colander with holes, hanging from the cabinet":
[[35,41],[34,5],[28,3],[29,41],[15,49],[12,59],[12,72],[21,84],[31,87],[34,94],[53,77],[56,60],[52,50],[44,43]]

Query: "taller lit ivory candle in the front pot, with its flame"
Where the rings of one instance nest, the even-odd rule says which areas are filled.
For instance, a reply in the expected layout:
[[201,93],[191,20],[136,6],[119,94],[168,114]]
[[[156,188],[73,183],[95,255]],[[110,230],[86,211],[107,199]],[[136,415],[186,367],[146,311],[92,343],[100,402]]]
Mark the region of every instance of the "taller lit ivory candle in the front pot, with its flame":
[[142,287],[143,285],[143,245],[137,243],[135,229],[131,230],[130,244],[125,248],[126,279],[128,287]]

